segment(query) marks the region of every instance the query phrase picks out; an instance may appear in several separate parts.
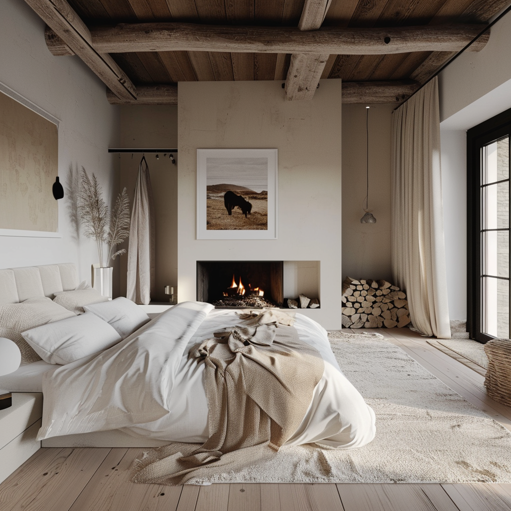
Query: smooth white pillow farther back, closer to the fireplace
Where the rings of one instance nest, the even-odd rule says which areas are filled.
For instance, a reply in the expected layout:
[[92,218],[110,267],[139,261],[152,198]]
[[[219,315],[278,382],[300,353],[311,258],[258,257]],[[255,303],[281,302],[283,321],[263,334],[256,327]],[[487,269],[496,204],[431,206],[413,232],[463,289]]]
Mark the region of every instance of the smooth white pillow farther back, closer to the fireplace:
[[151,319],[133,301],[122,296],[101,304],[84,305],[83,308],[110,324],[123,339]]

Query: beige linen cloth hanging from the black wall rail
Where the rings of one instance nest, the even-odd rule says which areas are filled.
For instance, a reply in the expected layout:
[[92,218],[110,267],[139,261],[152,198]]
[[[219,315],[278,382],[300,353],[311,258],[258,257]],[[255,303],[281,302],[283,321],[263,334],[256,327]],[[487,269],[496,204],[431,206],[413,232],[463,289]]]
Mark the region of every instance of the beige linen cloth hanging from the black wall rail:
[[154,289],[154,207],[146,158],[138,167],[128,245],[126,297],[135,304],[148,304]]

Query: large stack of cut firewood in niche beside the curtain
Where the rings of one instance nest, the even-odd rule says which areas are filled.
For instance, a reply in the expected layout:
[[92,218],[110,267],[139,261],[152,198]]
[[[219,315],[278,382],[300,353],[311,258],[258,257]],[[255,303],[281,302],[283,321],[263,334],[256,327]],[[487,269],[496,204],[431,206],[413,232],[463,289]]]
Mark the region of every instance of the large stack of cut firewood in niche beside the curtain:
[[342,283],[342,326],[406,327],[410,322],[406,294],[387,281],[346,277]]

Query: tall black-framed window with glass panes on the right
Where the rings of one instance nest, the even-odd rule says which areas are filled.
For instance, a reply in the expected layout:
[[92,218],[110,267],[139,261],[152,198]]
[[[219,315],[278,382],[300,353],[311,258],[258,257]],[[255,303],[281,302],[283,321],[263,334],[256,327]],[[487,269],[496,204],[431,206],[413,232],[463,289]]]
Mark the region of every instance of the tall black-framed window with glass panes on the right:
[[511,109],[467,132],[468,327],[486,342],[511,337]]

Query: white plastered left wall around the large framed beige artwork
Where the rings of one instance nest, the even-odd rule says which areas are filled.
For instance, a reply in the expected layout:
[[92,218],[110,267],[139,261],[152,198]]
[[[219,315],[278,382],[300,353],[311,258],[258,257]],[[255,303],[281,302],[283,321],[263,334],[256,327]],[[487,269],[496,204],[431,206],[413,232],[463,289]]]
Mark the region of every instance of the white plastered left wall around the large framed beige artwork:
[[[119,160],[108,147],[118,145],[119,107],[108,103],[105,85],[78,57],[51,55],[44,22],[20,0],[0,2],[0,49],[0,82],[60,120],[58,173],[64,190],[69,168],[83,165],[96,174],[111,203],[119,188]],[[67,200],[59,200],[62,237],[2,236],[0,268],[72,262],[80,278],[90,280],[90,265],[98,262],[96,243],[77,236]]]

